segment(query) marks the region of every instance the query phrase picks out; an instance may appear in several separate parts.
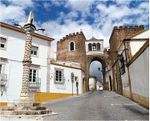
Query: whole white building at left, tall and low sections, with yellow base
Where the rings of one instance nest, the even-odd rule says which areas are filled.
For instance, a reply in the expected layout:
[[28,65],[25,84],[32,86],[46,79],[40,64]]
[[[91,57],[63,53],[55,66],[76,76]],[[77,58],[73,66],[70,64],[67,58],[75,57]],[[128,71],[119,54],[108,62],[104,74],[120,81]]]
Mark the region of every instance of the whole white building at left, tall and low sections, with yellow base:
[[[0,23],[0,30],[0,105],[6,105],[20,100],[25,32],[5,23]],[[52,40],[33,34],[29,90],[35,102],[83,93],[80,64],[54,61],[56,55],[50,51]]]

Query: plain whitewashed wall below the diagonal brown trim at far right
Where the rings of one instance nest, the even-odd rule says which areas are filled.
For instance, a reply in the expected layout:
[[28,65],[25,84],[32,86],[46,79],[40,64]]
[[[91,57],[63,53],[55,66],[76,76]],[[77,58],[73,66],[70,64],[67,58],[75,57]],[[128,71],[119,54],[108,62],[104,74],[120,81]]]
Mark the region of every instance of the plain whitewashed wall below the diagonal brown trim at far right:
[[132,92],[149,97],[149,47],[129,66]]

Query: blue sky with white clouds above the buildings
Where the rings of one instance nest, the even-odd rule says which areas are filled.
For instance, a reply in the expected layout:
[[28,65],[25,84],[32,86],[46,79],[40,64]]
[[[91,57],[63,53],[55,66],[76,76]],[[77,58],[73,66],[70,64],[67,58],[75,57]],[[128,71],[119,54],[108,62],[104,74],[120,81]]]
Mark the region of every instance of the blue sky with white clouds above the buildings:
[[149,26],[148,0],[1,0],[0,21],[23,25],[32,10],[37,27],[55,43],[66,34],[82,30],[87,39],[95,36],[109,46],[113,26]]

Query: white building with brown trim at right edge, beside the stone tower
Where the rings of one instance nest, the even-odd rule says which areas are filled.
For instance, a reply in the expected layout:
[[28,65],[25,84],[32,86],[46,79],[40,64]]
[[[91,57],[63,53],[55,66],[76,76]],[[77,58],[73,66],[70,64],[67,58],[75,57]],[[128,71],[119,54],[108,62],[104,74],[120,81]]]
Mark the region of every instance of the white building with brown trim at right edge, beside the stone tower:
[[118,54],[123,95],[149,107],[149,30],[125,39]]

